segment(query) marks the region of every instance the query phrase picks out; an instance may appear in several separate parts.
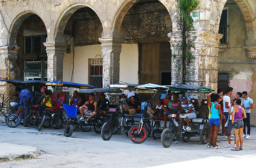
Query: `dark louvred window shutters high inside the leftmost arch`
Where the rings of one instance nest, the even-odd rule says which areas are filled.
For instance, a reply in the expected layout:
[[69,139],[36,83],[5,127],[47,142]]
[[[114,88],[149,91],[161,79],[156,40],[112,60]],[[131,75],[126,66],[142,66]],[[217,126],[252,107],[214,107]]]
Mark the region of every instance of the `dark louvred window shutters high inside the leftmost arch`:
[[23,48],[24,54],[46,53],[46,48],[43,43],[46,42],[47,35],[25,36]]

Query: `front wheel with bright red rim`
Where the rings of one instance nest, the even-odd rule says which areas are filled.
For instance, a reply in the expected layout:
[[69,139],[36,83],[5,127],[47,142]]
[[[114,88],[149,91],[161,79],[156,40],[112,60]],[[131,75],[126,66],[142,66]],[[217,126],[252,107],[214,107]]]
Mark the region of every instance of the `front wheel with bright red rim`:
[[[138,130],[140,130],[140,134],[137,133]],[[143,143],[148,137],[148,131],[145,127],[140,127],[139,125],[134,125],[129,130],[129,138],[134,143]]]

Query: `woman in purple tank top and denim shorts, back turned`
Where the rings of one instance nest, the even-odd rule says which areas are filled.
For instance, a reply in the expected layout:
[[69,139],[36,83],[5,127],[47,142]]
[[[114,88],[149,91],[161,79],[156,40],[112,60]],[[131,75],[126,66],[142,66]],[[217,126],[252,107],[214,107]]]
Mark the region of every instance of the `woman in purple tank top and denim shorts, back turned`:
[[[244,138],[243,138],[243,129],[244,129],[243,118],[246,118],[246,113],[245,113],[244,108],[242,108],[240,106],[241,105],[241,100],[240,99],[236,100],[236,105],[237,106],[234,107],[233,113],[232,113],[232,123],[234,124],[236,148],[231,149],[231,151],[243,150],[243,141],[244,141]],[[239,138],[240,138],[240,147],[239,147]]]

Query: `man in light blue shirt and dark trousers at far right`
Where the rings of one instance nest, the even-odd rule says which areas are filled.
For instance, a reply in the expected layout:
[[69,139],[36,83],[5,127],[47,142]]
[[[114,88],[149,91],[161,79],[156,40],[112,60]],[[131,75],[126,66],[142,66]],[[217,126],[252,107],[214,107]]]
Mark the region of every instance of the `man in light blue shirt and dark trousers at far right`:
[[[250,138],[250,109],[254,108],[253,105],[253,100],[248,97],[248,93],[247,91],[243,91],[242,92],[242,97],[244,99],[244,110],[246,113],[246,118],[243,119],[244,121],[244,134],[243,137],[245,137],[246,139]],[[246,135],[246,126],[247,126],[247,135]]]

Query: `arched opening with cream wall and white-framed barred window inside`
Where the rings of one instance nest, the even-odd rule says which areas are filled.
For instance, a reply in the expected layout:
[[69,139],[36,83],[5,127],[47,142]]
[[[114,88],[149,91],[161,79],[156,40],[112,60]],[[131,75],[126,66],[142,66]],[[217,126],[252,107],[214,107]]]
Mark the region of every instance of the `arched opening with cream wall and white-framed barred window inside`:
[[[102,23],[89,7],[76,6],[66,13],[58,28],[67,43],[63,80],[102,87],[102,51],[99,42]],[[67,15],[69,18],[66,21]]]

